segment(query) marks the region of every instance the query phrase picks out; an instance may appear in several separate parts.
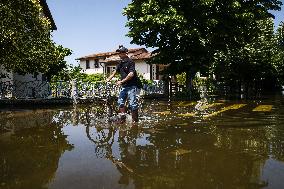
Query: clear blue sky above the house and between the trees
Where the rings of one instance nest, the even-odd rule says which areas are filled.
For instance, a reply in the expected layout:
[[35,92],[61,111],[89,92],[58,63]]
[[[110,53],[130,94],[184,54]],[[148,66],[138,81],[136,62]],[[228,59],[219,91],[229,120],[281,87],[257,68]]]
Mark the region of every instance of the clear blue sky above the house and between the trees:
[[[78,65],[76,58],[115,51],[120,44],[127,48],[141,47],[130,44],[131,39],[126,36],[127,18],[122,15],[122,11],[130,2],[131,0],[47,0],[57,26],[57,30],[52,32],[52,39],[73,52],[65,58],[67,63]],[[276,17],[275,25],[284,21],[284,6],[281,11],[272,13]]]

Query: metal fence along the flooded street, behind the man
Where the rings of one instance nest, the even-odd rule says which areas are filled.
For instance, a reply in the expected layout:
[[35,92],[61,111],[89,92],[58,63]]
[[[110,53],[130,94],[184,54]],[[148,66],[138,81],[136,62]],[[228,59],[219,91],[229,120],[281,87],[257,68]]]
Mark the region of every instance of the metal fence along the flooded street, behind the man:
[[[117,96],[120,87],[114,83],[58,81],[49,83],[45,81],[29,82],[0,82],[0,99],[32,99],[32,98],[104,98],[108,95]],[[164,83],[153,81],[144,84],[141,95],[164,94]]]

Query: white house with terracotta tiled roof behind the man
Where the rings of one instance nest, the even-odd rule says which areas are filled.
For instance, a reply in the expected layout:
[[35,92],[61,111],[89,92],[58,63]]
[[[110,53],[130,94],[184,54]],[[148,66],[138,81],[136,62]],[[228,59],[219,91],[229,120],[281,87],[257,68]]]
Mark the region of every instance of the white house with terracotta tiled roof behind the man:
[[[110,75],[119,63],[119,53],[104,52],[92,54],[84,57],[80,57],[77,60],[80,61],[80,67],[82,72],[86,74],[101,73],[104,75]],[[151,58],[151,53],[145,48],[133,48],[128,49],[128,56],[135,62],[135,68],[138,74],[142,75],[144,79],[148,80],[160,80],[161,75],[159,71],[163,69],[163,65],[147,64],[147,60]]]

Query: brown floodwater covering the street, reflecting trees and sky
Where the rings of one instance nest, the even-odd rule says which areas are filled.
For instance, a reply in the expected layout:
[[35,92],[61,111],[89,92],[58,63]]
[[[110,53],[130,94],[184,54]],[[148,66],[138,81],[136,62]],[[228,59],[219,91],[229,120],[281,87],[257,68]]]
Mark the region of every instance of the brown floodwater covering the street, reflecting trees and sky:
[[[197,111],[197,109],[198,111]],[[284,188],[284,96],[0,111],[1,189]]]

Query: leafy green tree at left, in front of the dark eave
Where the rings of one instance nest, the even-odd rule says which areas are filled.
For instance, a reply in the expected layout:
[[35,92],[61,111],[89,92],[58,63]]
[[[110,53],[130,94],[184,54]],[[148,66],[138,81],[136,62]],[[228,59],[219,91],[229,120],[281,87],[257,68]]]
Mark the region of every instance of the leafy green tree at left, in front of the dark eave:
[[50,39],[51,25],[38,0],[1,0],[0,17],[0,65],[7,71],[56,74],[66,67],[71,51]]

